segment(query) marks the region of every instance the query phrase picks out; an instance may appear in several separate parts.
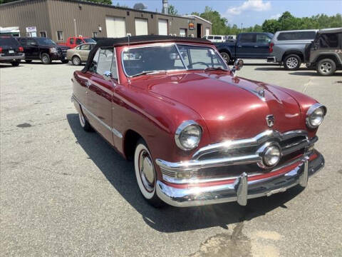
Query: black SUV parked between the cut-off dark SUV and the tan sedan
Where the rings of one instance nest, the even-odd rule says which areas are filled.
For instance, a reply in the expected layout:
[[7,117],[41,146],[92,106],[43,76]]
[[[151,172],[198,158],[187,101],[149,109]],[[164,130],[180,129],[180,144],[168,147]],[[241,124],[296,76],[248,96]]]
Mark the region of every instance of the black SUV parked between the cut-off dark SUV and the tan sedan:
[[51,64],[53,60],[60,60],[67,64],[66,50],[68,46],[60,46],[51,39],[43,37],[19,37],[17,38],[24,47],[25,61],[41,60],[43,64]]

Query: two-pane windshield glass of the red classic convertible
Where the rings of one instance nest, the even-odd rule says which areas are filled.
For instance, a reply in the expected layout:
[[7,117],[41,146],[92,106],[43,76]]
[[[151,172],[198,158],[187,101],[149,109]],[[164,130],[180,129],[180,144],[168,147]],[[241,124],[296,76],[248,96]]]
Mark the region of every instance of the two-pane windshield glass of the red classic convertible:
[[185,69],[228,69],[211,47],[179,44],[125,49],[123,67],[128,76]]

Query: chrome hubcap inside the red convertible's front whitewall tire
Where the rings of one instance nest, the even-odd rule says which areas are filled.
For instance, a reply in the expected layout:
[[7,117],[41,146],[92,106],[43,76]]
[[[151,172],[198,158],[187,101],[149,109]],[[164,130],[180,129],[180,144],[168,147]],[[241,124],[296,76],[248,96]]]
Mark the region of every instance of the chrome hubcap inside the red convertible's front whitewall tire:
[[147,191],[152,192],[155,188],[155,169],[150,155],[145,150],[139,154],[139,172],[142,184]]

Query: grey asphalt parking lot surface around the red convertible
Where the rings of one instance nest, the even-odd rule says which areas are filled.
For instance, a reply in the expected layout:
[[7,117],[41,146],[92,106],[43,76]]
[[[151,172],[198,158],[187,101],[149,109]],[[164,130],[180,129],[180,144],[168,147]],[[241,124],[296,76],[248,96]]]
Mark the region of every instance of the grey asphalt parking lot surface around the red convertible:
[[304,191],[246,207],[162,209],[140,196],[132,163],[81,129],[70,99],[82,66],[0,64],[1,256],[342,256],[342,72],[246,62],[238,76],[328,107],[316,143],[326,166]]

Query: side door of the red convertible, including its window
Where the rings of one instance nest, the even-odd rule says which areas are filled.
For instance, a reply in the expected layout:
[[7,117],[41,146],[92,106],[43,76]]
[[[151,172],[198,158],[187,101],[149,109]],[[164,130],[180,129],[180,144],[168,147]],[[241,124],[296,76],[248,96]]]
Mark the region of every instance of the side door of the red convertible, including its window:
[[[116,63],[114,49],[99,49],[96,71],[91,73],[87,99],[88,110],[91,113],[90,124],[108,142],[113,143],[112,108],[113,94],[117,84],[116,66],[112,71],[113,60]],[[112,72],[113,79],[104,76]]]

